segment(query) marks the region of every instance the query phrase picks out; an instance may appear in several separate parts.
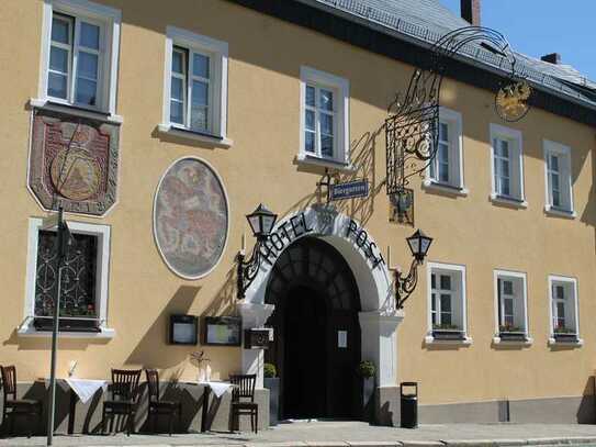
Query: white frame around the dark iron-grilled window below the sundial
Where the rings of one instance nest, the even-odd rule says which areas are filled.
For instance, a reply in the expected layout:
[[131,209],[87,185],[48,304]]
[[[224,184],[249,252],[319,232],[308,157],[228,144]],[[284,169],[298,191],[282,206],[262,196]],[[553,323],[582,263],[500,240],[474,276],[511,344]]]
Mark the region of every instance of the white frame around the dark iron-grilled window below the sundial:
[[[27,246],[27,267],[25,283],[25,305],[23,323],[18,329],[20,336],[50,337],[52,333],[36,331],[33,327],[33,316],[35,315],[35,280],[37,270],[37,243],[43,219],[30,217],[29,220],[29,246]],[[88,224],[82,222],[68,221],[68,227],[75,234],[88,234],[98,237],[98,260],[95,273],[95,300],[98,303],[100,320],[99,333],[78,333],[59,332],[60,337],[72,338],[112,338],[115,331],[106,326],[108,321],[108,299],[109,299],[109,278],[110,278],[110,235],[109,225]]]

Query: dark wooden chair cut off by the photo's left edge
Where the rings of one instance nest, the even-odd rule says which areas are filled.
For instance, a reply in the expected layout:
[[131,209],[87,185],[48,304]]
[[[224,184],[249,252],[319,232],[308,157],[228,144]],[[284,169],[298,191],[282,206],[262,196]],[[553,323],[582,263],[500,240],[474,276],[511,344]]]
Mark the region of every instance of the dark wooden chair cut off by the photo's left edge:
[[[4,405],[2,410],[2,424],[10,420],[10,434],[14,432],[14,418],[16,416],[27,417],[27,437],[31,437],[35,420],[42,420],[43,403],[33,399],[16,399],[16,368],[14,366],[0,367],[2,384],[4,388]],[[12,395],[12,398],[10,398]]]

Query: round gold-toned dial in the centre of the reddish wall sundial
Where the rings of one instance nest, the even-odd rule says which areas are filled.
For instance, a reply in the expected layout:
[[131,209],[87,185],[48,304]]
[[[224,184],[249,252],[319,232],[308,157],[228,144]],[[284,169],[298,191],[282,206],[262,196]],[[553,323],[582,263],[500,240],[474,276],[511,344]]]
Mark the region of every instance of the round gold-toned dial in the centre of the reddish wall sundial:
[[52,161],[50,176],[56,190],[70,200],[87,200],[99,191],[100,167],[86,150],[60,150]]

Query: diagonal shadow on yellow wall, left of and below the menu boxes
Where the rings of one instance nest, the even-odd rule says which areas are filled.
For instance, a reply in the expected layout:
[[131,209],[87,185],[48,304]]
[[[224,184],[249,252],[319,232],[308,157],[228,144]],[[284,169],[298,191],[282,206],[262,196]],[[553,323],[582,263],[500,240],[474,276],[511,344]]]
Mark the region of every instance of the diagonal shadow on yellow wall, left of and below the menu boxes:
[[131,353],[125,364],[142,365],[145,368],[166,369],[180,365],[188,357],[188,347],[170,346],[167,351],[158,349],[168,339],[171,314],[189,313],[200,287],[181,286]]

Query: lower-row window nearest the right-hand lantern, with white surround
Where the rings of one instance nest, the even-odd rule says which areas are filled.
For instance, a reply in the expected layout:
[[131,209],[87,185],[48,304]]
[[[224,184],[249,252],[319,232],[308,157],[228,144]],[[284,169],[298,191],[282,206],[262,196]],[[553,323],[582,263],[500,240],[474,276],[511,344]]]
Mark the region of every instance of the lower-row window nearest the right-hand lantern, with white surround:
[[465,267],[428,264],[429,322],[427,343],[470,342],[465,323]]

